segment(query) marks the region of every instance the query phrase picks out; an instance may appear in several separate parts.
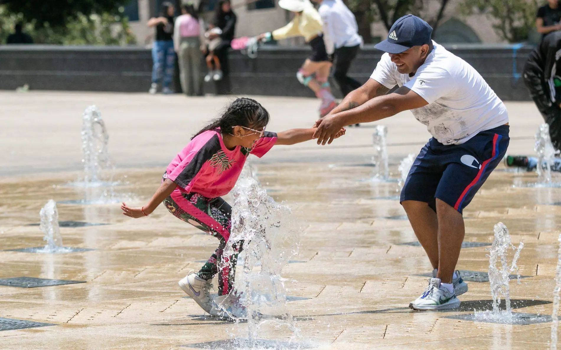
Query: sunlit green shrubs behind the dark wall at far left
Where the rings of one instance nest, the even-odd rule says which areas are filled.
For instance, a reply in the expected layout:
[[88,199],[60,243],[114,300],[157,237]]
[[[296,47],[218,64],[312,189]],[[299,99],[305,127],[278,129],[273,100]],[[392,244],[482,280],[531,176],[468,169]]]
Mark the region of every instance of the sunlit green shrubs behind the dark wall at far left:
[[[103,12],[89,16],[77,13],[59,26],[52,26],[50,22],[38,24],[37,20],[32,20],[25,22],[24,31],[31,35],[36,44],[135,44],[128,19],[120,14],[121,11],[122,9],[117,14]],[[5,6],[0,6],[0,44],[6,43],[6,38],[13,33],[13,27],[18,21],[24,21],[22,13],[12,13]]]

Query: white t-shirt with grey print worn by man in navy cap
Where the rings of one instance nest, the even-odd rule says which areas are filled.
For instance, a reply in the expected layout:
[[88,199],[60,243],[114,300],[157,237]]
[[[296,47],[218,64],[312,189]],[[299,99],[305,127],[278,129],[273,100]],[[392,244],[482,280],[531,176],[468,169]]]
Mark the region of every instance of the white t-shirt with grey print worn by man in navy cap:
[[384,53],[370,76],[388,89],[405,86],[427,104],[412,109],[444,145],[463,144],[478,132],[508,123],[507,108],[466,61],[433,41],[434,49],[415,75],[401,74]]

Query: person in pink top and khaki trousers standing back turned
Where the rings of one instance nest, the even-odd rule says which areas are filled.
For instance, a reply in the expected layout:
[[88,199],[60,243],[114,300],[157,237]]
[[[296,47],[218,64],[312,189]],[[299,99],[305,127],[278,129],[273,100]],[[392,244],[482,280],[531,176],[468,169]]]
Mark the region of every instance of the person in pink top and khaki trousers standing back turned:
[[192,3],[181,7],[181,16],[177,17],[173,29],[173,48],[177,52],[180,82],[183,93],[187,96],[203,95],[201,79],[201,54],[204,30],[202,20]]

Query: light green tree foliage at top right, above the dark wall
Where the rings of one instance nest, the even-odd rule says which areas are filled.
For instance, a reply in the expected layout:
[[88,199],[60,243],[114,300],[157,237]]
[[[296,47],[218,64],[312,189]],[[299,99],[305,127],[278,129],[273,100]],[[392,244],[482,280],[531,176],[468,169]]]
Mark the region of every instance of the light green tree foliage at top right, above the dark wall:
[[485,14],[493,29],[510,43],[528,40],[536,24],[537,0],[463,0],[462,15]]

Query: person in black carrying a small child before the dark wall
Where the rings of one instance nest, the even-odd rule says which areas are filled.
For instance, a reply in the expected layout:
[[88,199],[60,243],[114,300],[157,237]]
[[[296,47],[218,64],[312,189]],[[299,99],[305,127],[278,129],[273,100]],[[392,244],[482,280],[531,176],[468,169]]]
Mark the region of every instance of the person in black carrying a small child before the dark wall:
[[[228,75],[228,49],[234,38],[234,30],[236,29],[236,13],[232,11],[229,0],[220,0],[217,4],[216,14],[214,17],[214,25],[222,30],[219,34],[222,38],[220,43],[215,49],[214,54],[220,61],[220,67],[224,76]],[[218,36],[217,34],[214,34]],[[215,36],[209,36],[209,39],[214,39]]]

